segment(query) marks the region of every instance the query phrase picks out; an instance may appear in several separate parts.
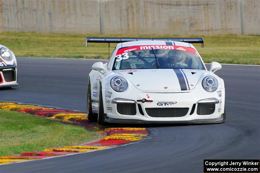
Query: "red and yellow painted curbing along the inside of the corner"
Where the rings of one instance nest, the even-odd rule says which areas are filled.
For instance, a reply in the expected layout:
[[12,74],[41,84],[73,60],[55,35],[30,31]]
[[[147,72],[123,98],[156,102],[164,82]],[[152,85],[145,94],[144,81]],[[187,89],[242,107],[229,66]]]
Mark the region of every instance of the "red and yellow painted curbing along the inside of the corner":
[[8,102],[0,102],[0,109],[32,114],[34,116],[44,117],[66,124],[81,125],[87,128],[92,128],[103,136],[97,142],[89,142],[82,145],[44,149],[43,151],[27,152],[21,153],[20,155],[0,157],[0,164],[101,150],[111,146],[138,141],[149,135],[147,128],[104,128],[103,126],[99,126],[96,122],[89,121],[85,112]]

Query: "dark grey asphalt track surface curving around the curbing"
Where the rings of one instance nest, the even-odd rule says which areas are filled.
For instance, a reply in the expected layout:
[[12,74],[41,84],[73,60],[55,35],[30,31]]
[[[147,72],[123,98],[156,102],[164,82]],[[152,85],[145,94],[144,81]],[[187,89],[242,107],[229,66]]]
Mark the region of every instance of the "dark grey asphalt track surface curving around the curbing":
[[[0,100],[86,110],[95,60],[17,58],[19,86]],[[207,65],[208,66],[208,65]],[[260,66],[222,65],[226,121],[149,125],[150,138],[76,155],[0,166],[0,172],[203,172],[203,159],[260,158]]]

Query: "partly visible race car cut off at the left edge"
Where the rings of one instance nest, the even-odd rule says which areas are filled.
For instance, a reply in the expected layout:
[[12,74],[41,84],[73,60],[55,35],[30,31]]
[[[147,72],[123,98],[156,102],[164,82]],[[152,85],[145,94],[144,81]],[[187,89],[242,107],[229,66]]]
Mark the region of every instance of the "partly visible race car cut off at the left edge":
[[13,52],[0,45],[0,88],[11,88],[17,84],[17,62]]

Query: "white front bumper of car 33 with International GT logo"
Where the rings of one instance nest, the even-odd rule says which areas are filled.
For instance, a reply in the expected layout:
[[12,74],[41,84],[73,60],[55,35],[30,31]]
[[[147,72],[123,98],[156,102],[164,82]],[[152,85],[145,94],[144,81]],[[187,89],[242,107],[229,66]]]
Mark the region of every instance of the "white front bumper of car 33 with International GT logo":
[[[111,89],[103,89],[103,105],[106,122],[116,123],[221,123],[223,122],[224,105],[225,105],[225,88],[217,89],[215,92],[206,92],[204,89],[194,89],[191,92],[179,93],[152,93],[136,90],[135,92],[126,91],[125,93],[114,92]],[[221,95],[218,92],[221,91]],[[105,94],[111,92],[110,98]],[[147,96],[148,95],[148,96]],[[149,98],[148,98],[149,97]],[[115,98],[127,98],[131,100],[152,100],[149,102],[136,102],[136,112],[133,114],[120,114],[116,103],[111,103]],[[202,109],[198,101],[202,99],[216,98],[219,103],[214,104],[214,110],[210,114],[201,114],[197,111]],[[158,105],[162,101],[176,102],[168,105]],[[142,112],[140,111],[140,107]],[[187,113],[183,116],[172,117],[153,117],[147,114],[146,108],[186,108]],[[121,107],[121,110],[124,110]],[[127,112],[127,111],[123,111]],[[203,111],[202,111],[203,112]]]

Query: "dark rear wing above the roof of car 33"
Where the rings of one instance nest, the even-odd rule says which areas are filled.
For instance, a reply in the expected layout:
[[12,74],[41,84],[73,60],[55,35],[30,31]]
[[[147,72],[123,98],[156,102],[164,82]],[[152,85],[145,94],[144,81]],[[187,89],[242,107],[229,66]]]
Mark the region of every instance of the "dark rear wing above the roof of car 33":
[[182,41],[186,43],[201,43],[203,48],[204,41],[202,38],[117,38],[117,37],[86,37],[86,47],[87,43],[123,43],[128,41],[144,41],[144,40],[154,40],[154,41]]

